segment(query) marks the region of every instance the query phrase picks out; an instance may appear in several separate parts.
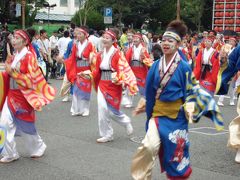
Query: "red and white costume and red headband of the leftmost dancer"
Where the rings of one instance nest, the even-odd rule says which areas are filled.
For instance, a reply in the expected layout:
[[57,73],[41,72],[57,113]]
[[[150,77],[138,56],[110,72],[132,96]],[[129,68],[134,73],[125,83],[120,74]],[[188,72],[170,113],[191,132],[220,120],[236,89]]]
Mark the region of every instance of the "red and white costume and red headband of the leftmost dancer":
[[[15,34],[27,38],[22,30]],[[0,73],[1,88],[4,87],[4,96],[0,97],[0,106],[3,105],[3,108],[0,107],[0,127],[6,132],[1,162],[19,158],[14,139],[16,134],[23,137],[30,156],[43,155],[46,145],[35,128],[35,110],[40,111],[50,103],[56,93],[44,79],[31,45],[16,53],[11,61],[11,69],[11,76],[6,72]]]

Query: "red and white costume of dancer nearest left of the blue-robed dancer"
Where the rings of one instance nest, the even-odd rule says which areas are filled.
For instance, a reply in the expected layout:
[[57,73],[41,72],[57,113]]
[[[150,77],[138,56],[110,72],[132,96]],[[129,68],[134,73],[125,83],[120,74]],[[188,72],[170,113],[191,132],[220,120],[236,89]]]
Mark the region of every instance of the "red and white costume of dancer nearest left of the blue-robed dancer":
[[113,45],[108,52],[104,49],[97,54],[92,75],[98,98],[99,133],[101,137],[111,139],[113,129],[110,120],[126,128],[131,126],[130,118],[120,111],[122,84],[125,83],[134,94],[137,91],[136,79],[127,61]]

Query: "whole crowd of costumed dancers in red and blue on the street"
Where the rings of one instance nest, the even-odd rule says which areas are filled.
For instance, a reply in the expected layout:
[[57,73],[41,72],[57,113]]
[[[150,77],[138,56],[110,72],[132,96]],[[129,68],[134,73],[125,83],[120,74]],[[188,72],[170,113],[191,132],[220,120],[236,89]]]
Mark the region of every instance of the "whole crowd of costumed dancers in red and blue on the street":
[[[61,67],[60,95],[63,101],[72,99],[72,116],[89,116],[91,93],[97,92],[98,143],[114,140],[111,121],[123,126],[128,135],[133,133],[131,119],[121,106],[134,107],[134,96],[141,96],[133,114],[146,112],[146,135],[133,157],[134,179],[151,179],[157,156],[168,179],[189,178],[188,123],[206,116],[217,130],[223,130],[217,104],[224,105],[230,82],[230,105],[235,105],[240,81],[237,37],[214,31],[189,35],[178,20],[161,36],[127,28],[121,36],[116,28],[101,34],[96,39],[87,27],[74,27],[59,40],[52,36],[53,48],[45,30],[40,38],[34,29],[16,30],[10,37],[13,51],[0,73],[0,162],[19,159],[16,134],[24,138],[30,157],[44,154],[47,146],[36,130],[35,111],[56,95],[48,79],[54,60]],[[215,94],[221,95],[217,103]],[[240,163],[239,145],[234,148],[235,161]]]

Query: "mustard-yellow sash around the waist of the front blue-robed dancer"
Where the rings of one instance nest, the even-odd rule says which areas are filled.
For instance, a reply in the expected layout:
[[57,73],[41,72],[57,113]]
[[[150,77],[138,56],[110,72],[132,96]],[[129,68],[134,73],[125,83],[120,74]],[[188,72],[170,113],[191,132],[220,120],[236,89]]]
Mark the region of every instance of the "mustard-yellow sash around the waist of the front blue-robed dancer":
[[182,105],[182,99],[178,99],[173,102],[163,102],[157,100],[153,108],[152,117],[167,116],[171,119],[176,119]]

